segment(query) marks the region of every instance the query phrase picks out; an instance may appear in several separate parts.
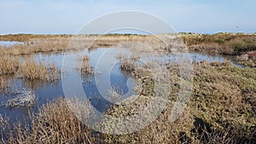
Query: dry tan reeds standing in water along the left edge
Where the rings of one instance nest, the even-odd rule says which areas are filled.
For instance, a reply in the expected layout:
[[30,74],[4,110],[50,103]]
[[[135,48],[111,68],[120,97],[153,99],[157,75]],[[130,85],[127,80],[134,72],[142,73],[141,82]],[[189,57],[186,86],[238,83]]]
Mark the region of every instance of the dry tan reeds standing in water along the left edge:
[[42,87],[45,84],[56,82],[60,70],[53,63],[38,62],[33,58],[20,60],[19,57],[10,56],[8,59],[0,58],[0,92],[7,94],[15,89],[15,79],[21,78],[22,83],[30,88]]

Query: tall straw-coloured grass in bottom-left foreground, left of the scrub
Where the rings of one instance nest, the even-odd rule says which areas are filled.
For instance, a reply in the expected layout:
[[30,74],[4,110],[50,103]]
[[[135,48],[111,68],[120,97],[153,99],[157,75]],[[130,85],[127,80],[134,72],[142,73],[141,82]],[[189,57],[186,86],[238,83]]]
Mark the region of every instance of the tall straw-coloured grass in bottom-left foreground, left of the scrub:
[[27,122],[29,124],[25,124],[25,128],[21,124],[14,124],[13,130],[5,130],[9,134],[5,134],[7,136],[2,138],[2,143],[102,143],[73,114],[62,98],[41,107],[38,114],[31,114]]

